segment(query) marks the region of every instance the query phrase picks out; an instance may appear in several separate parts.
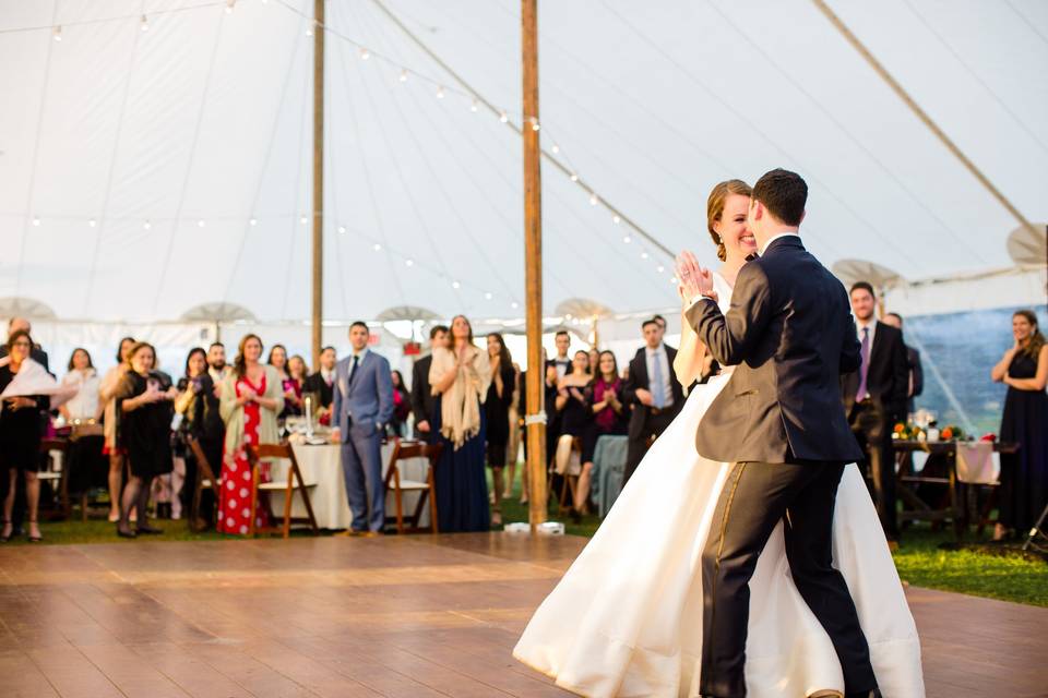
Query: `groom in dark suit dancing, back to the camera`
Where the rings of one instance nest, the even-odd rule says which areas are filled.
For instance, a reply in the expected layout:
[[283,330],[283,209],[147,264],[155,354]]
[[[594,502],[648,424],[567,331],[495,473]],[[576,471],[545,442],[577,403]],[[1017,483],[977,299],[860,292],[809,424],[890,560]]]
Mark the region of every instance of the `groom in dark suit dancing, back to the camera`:
[[859,365],[844,287],[800,241],[808,185],[776,169],[753,186],[748,225],[760,257],[739,272],[727,315],[707,269],[682,253],[688,322],[722,365],[738,368],[699,425],[699,453],[733,464],[702,554],[704,696],[746,696],[749,580],[778,521],[801,597],[825,628],[847,696],[878,696],[869,647],[832,527],[844,466],[862,457],[841,408],[839,375]]

